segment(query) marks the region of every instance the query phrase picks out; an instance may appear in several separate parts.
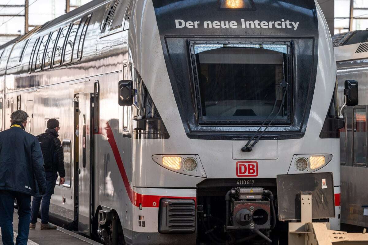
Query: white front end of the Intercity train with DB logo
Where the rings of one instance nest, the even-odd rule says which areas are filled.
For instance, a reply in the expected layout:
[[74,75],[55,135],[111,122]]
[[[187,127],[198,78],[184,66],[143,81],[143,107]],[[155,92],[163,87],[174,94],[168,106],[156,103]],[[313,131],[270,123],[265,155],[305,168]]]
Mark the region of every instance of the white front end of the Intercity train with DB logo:
[[132,12],[127,242],[277,244],[278,174],[332,172],[339,229],[336,64],[318,4],[152,0]]

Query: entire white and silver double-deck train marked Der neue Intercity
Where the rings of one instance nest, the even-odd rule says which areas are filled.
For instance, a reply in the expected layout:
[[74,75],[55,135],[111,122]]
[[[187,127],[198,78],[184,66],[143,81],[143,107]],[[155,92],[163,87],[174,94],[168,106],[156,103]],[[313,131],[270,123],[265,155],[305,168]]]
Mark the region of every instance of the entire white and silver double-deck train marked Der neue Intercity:
[[315,1],[95,0],[0,51],[1,130],[19,108],[35,135],[59,119],[67,177],[50,214],[106,244],[275,237],[277,174],[332,172],[339,198],[336,62]]

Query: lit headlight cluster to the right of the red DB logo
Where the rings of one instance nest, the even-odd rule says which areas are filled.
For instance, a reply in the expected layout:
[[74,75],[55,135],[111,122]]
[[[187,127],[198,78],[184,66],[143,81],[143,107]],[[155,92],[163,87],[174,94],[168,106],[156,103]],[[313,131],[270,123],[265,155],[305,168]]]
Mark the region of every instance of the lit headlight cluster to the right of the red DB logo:
[[[326,157],[328,157],[328,161],[326,162]],[[296,155],[295,157],[295,169],[299,172],[304,172],[305,170],[317,170],[327,163],[329,163],[332,159],[332,155]]]

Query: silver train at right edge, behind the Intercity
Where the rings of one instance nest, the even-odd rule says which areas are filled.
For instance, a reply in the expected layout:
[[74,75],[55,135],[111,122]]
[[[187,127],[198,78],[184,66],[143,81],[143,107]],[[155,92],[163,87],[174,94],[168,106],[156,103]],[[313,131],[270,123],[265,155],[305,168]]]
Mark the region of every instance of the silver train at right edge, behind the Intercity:
[[[368,31],[355,31],[334,36],[337,61],[339,100],[342,102],[344,81],[354,79],[359,86],[359,104],[346,107],[345,127],[340,131],[341,144],[341,221],[356,226],[368,225],[367,183],[367,79]],[[344,80],[345,79],[345,80]],[[367,207],[368,208],[368,207]],[[367,212],[367,211],[366,211]]]

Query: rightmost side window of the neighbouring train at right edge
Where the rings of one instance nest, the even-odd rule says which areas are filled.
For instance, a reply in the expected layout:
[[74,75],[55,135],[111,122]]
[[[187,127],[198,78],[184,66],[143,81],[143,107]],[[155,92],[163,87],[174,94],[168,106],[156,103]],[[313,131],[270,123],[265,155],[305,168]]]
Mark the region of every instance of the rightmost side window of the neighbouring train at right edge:
[[365,167],[367,165],[367,110],[354,108],[353,121],[353,166]]

